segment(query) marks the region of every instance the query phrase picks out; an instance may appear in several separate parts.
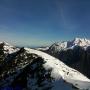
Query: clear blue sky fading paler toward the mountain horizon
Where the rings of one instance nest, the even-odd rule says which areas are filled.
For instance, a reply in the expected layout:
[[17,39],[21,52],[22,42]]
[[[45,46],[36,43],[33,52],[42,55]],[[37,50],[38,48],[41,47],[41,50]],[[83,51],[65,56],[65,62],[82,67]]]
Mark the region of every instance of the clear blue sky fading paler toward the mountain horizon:
[[0,0],[0,41],[49,45],[90,38],[90,0]]

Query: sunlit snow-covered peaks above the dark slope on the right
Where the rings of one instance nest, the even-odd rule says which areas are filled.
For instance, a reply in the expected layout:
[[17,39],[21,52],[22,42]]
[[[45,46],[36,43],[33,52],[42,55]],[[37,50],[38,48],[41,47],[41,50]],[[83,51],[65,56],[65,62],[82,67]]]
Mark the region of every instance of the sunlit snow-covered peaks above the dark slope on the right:
[[57,52],[57,51],[68,49],[68,48],[73,49],[75,46],[80,46],[86,49],[88,46],[90,46],[90,40],[86,38],[75,38],[72,41],[56,42],[53,45],[51,45],[49,49]]

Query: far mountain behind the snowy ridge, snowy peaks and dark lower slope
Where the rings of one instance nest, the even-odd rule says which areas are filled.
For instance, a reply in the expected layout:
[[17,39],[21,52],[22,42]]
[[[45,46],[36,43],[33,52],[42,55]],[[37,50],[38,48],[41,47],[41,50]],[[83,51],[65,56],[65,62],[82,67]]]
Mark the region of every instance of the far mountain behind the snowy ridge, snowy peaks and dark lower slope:
[[72,41],[54,43],[44,52],[90,78],[90,40],[75,38]]

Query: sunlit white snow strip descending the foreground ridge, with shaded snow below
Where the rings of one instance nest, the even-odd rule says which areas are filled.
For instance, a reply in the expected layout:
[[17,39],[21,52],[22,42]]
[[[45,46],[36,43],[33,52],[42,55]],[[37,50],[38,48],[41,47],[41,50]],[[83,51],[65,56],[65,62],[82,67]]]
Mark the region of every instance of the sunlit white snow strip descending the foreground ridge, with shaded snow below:
[[[27,53],[37,54],[42,57],[46,62],[43,64],[46,70],[52,69],[51,77],[55,79],[52,90],[73,90],[71,84],[80,90],[90,90],[90,80],[77,70],[68,67],[59,59],[44,52],[29,48],[25,48],[25,50]],[[63,82],[63,80],[70,84]]]

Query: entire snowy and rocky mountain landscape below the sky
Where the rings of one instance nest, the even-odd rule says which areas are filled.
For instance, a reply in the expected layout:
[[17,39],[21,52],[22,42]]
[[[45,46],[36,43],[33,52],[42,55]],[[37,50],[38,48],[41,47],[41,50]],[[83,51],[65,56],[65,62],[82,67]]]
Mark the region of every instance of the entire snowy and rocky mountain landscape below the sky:
[[90,41],[80,38],[36,49],[1,42],[0,89],[90,90],[89,47]]

